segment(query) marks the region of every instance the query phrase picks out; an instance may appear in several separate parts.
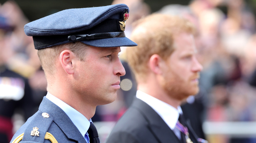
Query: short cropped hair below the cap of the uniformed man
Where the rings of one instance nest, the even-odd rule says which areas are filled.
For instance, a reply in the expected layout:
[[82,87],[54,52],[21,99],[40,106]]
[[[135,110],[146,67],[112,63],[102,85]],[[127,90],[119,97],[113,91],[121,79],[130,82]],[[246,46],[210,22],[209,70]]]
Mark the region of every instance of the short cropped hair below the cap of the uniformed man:
[[39,49],[37,55],[40,59],[42,68],[45,72],[46,78],[52,78],[56,72],[55,62],[60,53],[64,50],[70,50],[76,54],[76,57],[80,61],[85,60],[85,54],[87,49],[86,44],[82,42],[66,43],[62,45],[52,46],[49,48]]

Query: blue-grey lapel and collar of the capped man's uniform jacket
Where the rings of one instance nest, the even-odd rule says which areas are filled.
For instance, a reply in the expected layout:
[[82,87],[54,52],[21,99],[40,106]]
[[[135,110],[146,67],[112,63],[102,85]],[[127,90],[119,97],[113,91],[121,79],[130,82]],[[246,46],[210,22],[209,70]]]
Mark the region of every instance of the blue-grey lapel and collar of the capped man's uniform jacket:
[[50,116],[53,116],[53,121],[69,139],[76,140],[79,143],[86,143],[84,137],[76,128],[71,119],[67,116],[67,114],[46,97],[43,98],[43,101],[39,106],[39,110],[42,112],[47,112]]

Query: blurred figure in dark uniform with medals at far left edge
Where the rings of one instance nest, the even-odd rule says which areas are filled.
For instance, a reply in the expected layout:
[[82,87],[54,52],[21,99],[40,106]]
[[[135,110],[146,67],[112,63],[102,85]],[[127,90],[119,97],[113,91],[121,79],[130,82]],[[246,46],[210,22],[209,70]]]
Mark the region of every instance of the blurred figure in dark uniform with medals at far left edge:
[[0,142],[8,143],[13,136],[12,118],[17,111],[24,119],[32,116],[31,87],[28,79],[12,71],[7,62],[12,55],[10,37],[13,26],[0,15]]

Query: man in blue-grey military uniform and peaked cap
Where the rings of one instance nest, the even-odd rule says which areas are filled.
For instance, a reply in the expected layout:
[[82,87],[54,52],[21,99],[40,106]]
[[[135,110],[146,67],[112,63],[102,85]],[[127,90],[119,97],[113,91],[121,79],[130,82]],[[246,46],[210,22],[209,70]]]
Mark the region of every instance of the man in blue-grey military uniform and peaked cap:
[[11,142],[99,143],[91,118],[116,99],[120,46],[137,46],[124,34],[128,12],[124,4],[67,9],[25,25],[48,93]]

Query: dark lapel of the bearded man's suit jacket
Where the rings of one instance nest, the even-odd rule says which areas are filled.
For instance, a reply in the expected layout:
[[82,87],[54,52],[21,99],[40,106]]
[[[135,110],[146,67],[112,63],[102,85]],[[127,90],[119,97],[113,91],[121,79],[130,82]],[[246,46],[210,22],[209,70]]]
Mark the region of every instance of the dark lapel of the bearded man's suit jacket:
[[136,108],[148,121],[148,129],[160,143],[180,143],[178,137],[164,122],[164,120],[147,103],[135,98],[132,108]]

